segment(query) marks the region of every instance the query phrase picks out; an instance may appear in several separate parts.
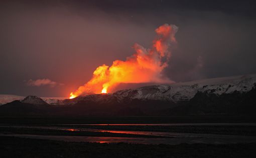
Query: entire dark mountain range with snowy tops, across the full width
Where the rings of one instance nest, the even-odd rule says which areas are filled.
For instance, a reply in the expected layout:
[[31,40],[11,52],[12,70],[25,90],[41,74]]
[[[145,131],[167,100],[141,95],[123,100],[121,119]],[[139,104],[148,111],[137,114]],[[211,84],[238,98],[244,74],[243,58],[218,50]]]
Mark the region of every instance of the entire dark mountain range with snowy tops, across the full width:
[[[4,115],[254,114],[256,74],[158,84],[73,99],[0,95]],[[3,99],[5,98],[5,99]],[[8,102],[8,103],[6,103]]]

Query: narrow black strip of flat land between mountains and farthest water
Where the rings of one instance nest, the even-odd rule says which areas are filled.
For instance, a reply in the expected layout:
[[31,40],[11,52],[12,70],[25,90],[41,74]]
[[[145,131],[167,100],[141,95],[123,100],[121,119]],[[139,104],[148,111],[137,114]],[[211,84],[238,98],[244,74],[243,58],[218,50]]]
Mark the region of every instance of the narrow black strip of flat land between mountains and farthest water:
[[190,116],[0,116],[6,124],[50,123],[240,123],[256,122],[256,116],[190,115]]

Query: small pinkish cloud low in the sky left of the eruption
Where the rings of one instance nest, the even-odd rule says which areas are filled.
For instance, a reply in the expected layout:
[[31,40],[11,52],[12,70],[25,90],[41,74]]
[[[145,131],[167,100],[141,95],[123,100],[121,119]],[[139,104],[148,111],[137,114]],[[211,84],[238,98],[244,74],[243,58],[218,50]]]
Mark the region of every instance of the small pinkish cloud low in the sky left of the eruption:
[[28,80],[27,85],[30,86],[43,86],[43,85],[49,85],[50,87],[54,87],[56,85],[63,85],[63,83],[58,83],[56,81],[52,81],[51,79],[48,78],[43,78],[43,79],[37,79],[37,80]]

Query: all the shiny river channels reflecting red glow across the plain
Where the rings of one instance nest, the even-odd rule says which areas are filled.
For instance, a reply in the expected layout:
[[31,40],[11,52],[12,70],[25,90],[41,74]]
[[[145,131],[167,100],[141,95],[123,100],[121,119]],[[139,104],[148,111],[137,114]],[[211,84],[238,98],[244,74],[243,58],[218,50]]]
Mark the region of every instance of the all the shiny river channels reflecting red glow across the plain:
[[[195,125],[195,123],[187,123],[188,125]],[[210,125],[211,123],[204,123]],[[213,123],[212,123],[213,124]],[[214,123],[218,124],[218,123]],[[254,123],[231,123],[231,125],[253,125]],[[74,124],[77,125],[77,124]],[[85,124],[84,124],[85,125]],[[92,124],[89,124],[92,125]],[[99,124],[96,124],[99,125]],[[105,125],[105,124],[102,124]],[[109,124],[113,125],[113,124]],[[115,124],[121,125],[121,124]],[[125,124],[135,125],[135,124]],[[138,125],[138,124],[136,124]],[[140,124],[142,125],[142,124]],[[151,124],[144,124],[151,125]],[[159,125],[159,124],[158,124]],[[167,125],[167,124],[165,124]],[[170,124],[169,124],[170,125]],[[174,124],[172,124],[174,125]],[[175,124],[177,125],[177,124]],[[184,123],[182,124],[184,125]],[[198,124],[199,125],[199,124]],[[202,124],[200,124],[202,125]],[[219,123],[219,125],[225,125]],[[228,124],[230,125],[230,124]],[[94,132],[111,132],[124,134],[139,134],[139,135],[153,135],[163,137],[105,137],[105,136],[64,136],[64,135],[32,135],[32,134],[8,134],[8,136],[18,136],[27,138],[53,139],[64,141],[86,141],[99,143],[144,143],[144,144],[179,144],[179,143],[237,143],[237,142],[256,142],[256,136],[244,135],[222,135],[222,134],[207,134],[207,133],[182,133],[182,132],[160,132],[160,131],[132,131],[132,130],[102,130],[84,127],[65,127],[65,126],[29,126],[29,125],[0,125],[1,127],[16,127],[16,128],[41,128],[41,129],[57,129],[66,131],[94,131]],[[0,134],[5,135],[5,134]],[[131,135],[130,135],[131,136]]]

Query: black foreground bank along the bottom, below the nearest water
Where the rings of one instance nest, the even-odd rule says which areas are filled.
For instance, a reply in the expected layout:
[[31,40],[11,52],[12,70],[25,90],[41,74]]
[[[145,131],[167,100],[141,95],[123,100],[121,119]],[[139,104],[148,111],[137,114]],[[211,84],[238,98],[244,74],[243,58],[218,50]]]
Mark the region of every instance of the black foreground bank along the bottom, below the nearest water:
[[256,157],[256,143],[152,145],[0,136],[0,157]]

